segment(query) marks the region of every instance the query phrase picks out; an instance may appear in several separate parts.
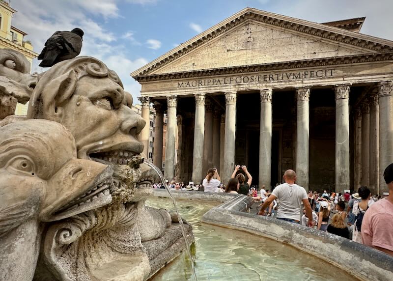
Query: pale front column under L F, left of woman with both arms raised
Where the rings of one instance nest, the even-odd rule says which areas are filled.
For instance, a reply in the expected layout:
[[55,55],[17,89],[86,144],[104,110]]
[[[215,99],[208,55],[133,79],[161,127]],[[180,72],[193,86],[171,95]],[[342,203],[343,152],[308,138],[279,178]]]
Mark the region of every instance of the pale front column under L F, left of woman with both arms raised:
[[226,185],[235,168],[236,92],[225,93],[225,152],[221,180]]

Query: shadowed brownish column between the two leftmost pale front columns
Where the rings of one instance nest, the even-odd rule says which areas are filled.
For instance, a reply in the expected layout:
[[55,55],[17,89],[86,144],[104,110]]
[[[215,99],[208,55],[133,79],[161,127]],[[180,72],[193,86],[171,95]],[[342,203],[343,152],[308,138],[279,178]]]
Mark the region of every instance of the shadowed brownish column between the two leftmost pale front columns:
[[164,111],[161,104],[154,104],[156,116],[154,119],[153,164],[162,170],[163,164],[163,137],[164,137]]

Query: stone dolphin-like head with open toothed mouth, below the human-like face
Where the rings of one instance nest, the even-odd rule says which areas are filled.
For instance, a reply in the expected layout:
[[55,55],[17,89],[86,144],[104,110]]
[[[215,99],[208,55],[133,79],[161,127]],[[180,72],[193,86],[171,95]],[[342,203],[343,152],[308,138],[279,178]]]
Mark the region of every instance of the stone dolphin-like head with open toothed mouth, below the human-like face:
[[111,176],[106,165],[76,159],[75,141],[56,122],[0,128],[0,234],[30,217],[54,221],[110,203]]

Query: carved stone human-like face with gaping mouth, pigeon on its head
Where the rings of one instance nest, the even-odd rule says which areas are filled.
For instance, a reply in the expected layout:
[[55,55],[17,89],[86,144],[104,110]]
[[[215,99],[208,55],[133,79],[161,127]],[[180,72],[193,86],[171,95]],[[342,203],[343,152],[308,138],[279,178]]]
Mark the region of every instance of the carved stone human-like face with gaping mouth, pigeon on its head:
[[127,164],[143,150],[137,135],[145,125],[131,105],[117,75],[82,56],[56,64],[40,79],[28,118],[64,125],[75,138],[78,158]]

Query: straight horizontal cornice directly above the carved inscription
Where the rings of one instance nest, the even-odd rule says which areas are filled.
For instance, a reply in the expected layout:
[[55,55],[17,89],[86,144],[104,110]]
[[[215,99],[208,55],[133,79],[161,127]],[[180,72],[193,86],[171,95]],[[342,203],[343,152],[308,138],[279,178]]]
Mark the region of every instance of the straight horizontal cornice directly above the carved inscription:
[[138,82],[161,81],[161,80],[174,80],[174,79],[187,79],[198,78],[206,76],[218,76],[226,74],[242,74],[261,71],[276,71],[285,69],[297,69],[306,67],[320,67],[320,66],[336,66],[343,64],[364,63],[393,60],[393,52],[383,53],[369,53],[361,55],[350,56],[332,56],[324,58],[312,58],[305,60],[291,60],[273,63],[262,63],[242,66],[230,66],[222,68],[212,68],[203,70],[193,70],[184,72],[172,72],[165,74],[152,74],[137,76],[135,79]]

